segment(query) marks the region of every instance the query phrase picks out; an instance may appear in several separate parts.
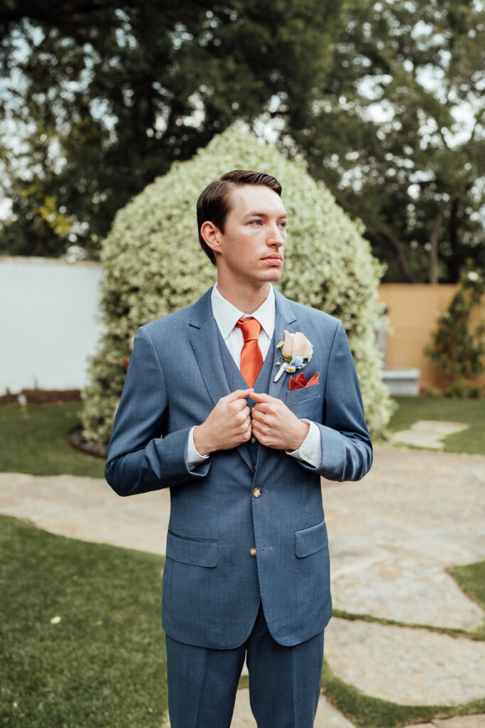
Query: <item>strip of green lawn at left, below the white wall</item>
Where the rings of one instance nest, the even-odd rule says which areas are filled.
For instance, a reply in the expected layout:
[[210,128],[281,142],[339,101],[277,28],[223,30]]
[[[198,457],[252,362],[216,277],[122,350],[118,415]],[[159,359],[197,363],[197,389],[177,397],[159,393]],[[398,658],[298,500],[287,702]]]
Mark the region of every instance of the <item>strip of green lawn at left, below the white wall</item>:
[[104,462],[74,450],[68,432],[79,424],[81,402],[0,407],[0,472],[104,477]]

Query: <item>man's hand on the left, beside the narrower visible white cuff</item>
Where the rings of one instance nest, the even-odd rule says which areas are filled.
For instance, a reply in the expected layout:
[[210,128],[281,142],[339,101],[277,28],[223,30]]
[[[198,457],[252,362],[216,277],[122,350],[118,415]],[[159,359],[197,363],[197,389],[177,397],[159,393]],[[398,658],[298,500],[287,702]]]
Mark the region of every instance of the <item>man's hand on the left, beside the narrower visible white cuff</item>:
[[215,450],[231,450],[251,437],[251,417],[246,397],[254,392],[236,389],[221,397],[207,419],[193,430],[193,444],[201,455]]

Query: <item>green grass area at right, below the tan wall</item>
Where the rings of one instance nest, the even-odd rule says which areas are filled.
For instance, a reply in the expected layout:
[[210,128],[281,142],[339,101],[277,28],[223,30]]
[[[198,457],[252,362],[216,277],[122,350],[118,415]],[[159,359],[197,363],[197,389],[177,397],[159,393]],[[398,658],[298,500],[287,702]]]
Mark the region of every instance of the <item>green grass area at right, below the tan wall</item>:
[[438,419],[468,424],[467,430],[444,438],[444,451],[485,455],[484,400],[452,400],[446,397],[394,397],[397,411],[389,430],[407,430],[420,419]]

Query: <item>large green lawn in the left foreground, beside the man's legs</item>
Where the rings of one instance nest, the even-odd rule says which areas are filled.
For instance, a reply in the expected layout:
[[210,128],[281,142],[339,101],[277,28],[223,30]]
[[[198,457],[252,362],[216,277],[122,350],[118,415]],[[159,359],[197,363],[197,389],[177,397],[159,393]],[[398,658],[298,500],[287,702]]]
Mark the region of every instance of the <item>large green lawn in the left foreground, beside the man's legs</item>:
[[6,516],[0,550],[0,725],[161,728],[163,558]]

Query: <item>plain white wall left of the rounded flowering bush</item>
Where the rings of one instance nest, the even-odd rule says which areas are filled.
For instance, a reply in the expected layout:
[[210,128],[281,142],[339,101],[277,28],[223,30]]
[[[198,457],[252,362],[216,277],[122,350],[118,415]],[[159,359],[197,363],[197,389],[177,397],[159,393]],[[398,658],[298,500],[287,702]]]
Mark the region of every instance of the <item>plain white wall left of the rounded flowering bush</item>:
[[84,386],[102,277],[97,263],[0,256],[0,394]]

